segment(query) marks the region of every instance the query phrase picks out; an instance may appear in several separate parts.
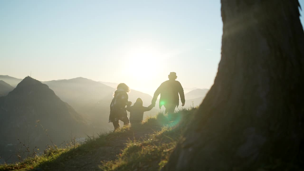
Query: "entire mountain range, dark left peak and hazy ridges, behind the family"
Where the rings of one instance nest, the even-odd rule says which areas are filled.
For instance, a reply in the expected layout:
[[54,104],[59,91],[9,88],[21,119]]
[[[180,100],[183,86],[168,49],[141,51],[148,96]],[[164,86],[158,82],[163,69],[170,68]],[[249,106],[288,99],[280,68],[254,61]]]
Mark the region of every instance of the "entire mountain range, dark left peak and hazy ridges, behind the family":
[[[108,123],[109,105],[117,85],[82,77],[40,82],[31,77],[22,80],[0,75],[0,153],[3,155],[1,149],[16,148],[17,139],[29,138],[31,144],[39,146],[50,144],[40,124],[56,144],[66,140],[71,131],[81,137],[112,130]],[[208,89],[194,89],[185,93],[185,107],[192,106],[192,102],[199,105],[207,92]],[[152,100],[152,96],[133,89],[128,95],[133,104],[138,97],[144,106]],[[157,106],[145,112],[144,117],[160,111]]]

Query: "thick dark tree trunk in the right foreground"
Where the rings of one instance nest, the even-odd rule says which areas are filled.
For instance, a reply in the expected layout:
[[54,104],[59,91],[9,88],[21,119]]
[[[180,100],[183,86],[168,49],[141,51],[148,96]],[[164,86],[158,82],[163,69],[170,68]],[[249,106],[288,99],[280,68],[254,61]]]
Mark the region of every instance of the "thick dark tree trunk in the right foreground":
[[222,58],[214,85],[163,170],[299,169],[304,126],[299,2],[221,3]]

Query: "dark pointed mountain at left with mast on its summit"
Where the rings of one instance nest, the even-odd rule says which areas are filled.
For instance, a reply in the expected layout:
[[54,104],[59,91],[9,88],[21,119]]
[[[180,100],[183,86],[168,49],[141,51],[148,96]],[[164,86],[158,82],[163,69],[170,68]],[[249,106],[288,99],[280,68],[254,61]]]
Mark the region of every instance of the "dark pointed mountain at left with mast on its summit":
[[29,139],[31,147],[51,144],[40,124],[56,145],[71,133],[84,137],[92,132],[85,119],[46,84],[26,77],[7,96],[0,97],[1,151],[9,148],[7,144],[16,148],[17,139]]

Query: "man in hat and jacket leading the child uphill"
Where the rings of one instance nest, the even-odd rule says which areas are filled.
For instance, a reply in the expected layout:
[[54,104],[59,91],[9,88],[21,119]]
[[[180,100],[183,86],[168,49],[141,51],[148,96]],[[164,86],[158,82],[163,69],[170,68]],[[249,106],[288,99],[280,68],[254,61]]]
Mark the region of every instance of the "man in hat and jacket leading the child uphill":
[[177,76],[175,72],[170,72],[168,75],[169,80],[161,83],[158,89],[155,91],[152,104],[155,106],[156,99],[159,94],[161,94],[161,98],[159,100],[159,108],[161,106],[165,106],[165,113],[174,113],[175,107],[179,104],[179,96],[181,96],[181,106],[185,105],[185,94],[184,89],[181,86],[181,83],[176,81]]

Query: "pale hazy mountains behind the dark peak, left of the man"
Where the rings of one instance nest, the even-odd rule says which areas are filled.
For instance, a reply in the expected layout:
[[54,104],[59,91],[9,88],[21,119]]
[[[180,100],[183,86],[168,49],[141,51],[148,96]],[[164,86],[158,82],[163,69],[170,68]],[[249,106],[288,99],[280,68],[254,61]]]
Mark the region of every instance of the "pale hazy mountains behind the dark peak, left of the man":
[[[16,84],[18,80],[13,77],[0,75],[0,78],[5,78],[10,83]],[[9,78],[9,79],[7,79]],[[74,79],[63,79],[43,82],[52,89],[57,96],[64,102],[71,105],[78,113],[80,113],[89,124],[92,124],[96,129],[108,131],[113,128],[112,124],[108,124],[109,120],[109,105],[113,98],[113,93],[116,90],[116,83],[96,82],[90,79],[78,77]],[[111,85],[111,86],[108,86]],[[135,103],[136,99],[143,99],[145,106],[149,106],[152,96],[131,89],[129,100]],[[145,116],[155,114],[157,109],[152,109],[145,113]]]

